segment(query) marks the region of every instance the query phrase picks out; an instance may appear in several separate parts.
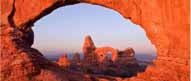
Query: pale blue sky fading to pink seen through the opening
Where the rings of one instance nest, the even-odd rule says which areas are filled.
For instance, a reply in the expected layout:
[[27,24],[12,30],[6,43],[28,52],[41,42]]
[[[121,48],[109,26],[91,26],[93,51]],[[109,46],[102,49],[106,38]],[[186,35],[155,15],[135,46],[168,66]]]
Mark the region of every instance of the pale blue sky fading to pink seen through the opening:
[[97,5],[80,3],[54,10],[33,27],[32,47],[43,54],[81,52],[85,36],[97,47],[119,50],[132,47],[138,54],[155,54],[156,49],[145,31],[118,12]]

